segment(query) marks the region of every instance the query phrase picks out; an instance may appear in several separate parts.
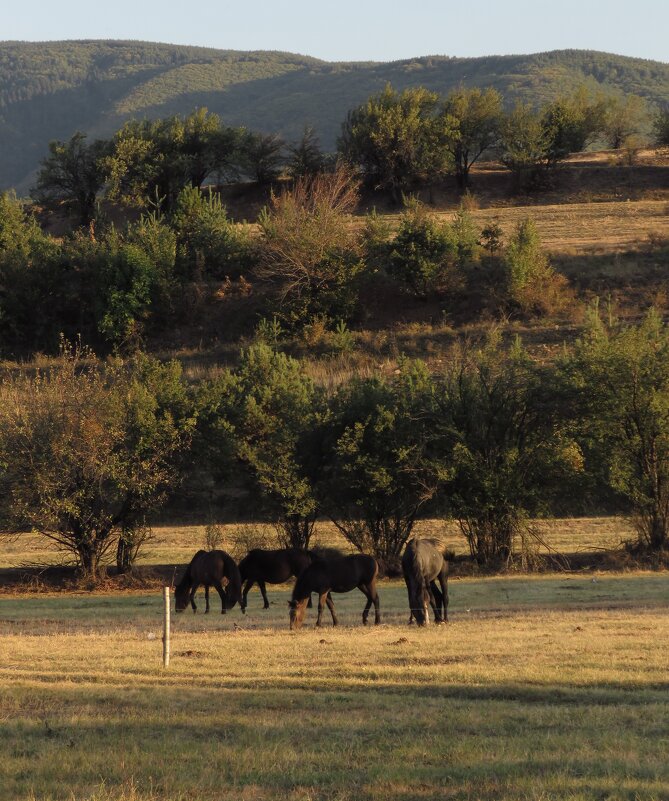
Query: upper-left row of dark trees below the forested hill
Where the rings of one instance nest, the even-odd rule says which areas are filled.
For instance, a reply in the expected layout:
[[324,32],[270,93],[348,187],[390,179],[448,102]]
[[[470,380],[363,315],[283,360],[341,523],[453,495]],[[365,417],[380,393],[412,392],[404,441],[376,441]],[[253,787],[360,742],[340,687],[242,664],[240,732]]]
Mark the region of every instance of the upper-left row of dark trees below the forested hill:
[[132,120],[109,140],[75,133],[51,142],[32,195],[48,207],[64,203],[77,224],[89,226],[103,190],[124,206],[169,213],[185,187],[242,178],[269,184],[281,171],[298,177],[324,165],[311,128],[289,145],[276,134],[223,125],[200,108],[186,117]]

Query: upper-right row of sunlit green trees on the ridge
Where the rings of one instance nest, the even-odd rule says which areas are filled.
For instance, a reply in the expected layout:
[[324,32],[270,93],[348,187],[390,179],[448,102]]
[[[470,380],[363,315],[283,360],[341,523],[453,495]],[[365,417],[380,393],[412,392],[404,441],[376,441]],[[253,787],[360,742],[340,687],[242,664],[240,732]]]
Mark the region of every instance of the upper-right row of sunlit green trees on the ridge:
[[[666,142],[665,117],[666,111],[655,117],[659,145]],[[349,113],[339,150],[370,184],[396,197],[444,173],[454,174],[464,190],[484,154],[512,171],[516,188],[529,188],[595,141],[615,149],[638,144],[648,118],[636,95],[592,97],[584,88],[540,108],[516,103],[506,110],[495,89],[461,88],[443,98],[421,87],[396,92],[387,86]]]

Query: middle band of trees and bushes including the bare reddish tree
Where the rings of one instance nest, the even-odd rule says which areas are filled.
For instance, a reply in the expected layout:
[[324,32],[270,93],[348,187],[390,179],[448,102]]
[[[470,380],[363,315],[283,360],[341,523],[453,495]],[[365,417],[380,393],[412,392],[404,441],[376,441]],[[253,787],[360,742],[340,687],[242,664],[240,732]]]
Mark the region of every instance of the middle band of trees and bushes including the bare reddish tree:
[[408,198],[397,230],[375,214],[361,227],[351,219],[357,197],[348,168],[297,179],[272,196],[252,233],[230,221],[216,194],[186,187],[169,214],[56,239],[15,198],[1,196],[0,347],[54,352],[64,333],[127,351],[147,334],[192,324],[194,298],[214,297],[226,278],[243,275],[257,289],[261,316],[287,333],[314,320],[331,330],[351,323],[363,289],[388,282],[438,295],[444,308],[476,294],[505,314],[568,302],[565,279],[530,221],[504,244],[494,223],[481,230],[464,210],[440,221]]

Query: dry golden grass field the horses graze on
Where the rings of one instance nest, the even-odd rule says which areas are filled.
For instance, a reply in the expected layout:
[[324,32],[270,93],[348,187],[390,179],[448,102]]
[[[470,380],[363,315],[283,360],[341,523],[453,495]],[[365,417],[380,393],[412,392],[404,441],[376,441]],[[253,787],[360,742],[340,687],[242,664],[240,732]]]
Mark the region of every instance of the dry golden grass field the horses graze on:
[[[547,526],[571,551],[625,530]],[[158,529],[149,561],[202,534]],[[0,799],[669,798],[666,572],[456,576],[425,629],[399,581],[377,627],[356,591],[290,632],[268,593],[173,615],[167,669],[159,588],[1,595]]]

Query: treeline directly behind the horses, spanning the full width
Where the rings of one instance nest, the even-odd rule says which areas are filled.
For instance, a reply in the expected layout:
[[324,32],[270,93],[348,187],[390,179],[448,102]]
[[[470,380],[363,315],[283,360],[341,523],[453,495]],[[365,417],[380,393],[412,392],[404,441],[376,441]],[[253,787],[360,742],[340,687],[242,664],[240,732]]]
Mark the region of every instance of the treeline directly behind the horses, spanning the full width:
[[669,535],[669,330],[602,320],[550,365],[491,332],[431,374],[326,391],[266,344],[188,384],[176,363],[105,362],[64,344],[0,384],[0,520],[96,575],[132,566],[151,515],[184,479],[243,483],[256,515],[306,547],[330,518],[392,562],[421,515],[458,521],[481,565],[531,560],[531,516],[631,512],[641,550]]

